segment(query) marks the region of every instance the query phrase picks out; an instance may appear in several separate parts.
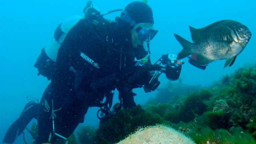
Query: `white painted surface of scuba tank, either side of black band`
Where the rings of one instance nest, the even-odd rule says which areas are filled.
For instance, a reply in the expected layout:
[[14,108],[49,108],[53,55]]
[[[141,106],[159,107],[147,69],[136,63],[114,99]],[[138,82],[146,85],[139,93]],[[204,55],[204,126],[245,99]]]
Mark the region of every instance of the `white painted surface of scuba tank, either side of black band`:
[[71,16],[61,24],[60,28],[63,33],[58,39],[58,41],[54,37],[52,37],[51,41],[45,46],[45,53],[50,59],[56,62],[58,50],[62,42],[66,38],[67,33],[80,19],[83,18],[84,16]]

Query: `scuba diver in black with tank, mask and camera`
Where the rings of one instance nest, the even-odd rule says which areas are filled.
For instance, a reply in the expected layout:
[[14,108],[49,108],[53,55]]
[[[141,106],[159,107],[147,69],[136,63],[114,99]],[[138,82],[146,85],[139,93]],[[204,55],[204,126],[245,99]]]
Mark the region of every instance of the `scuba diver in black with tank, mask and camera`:
[[[83,11],[84,16],[61,23],[41,50],[34,67],[51,83],[40,103],[25,106],[4,143],[13,143],[32,118],[38,120],[35,144],[54,143],[58,138],[67,143],[89,107],[100,107],[97,116],[103,123],[121,108],[136,106],[134,88],[154,91],[161,73],[169,80],[179,78],[184,62],[176,54],[162,55],[151,64],[149,42],[158,30],[153,28],[153,12],[147,4],[131,2],[115,21],[103,18],[107,13],[101,14],[92,1]],[[119,102],[110,111],[115,89]]]

